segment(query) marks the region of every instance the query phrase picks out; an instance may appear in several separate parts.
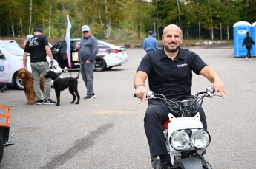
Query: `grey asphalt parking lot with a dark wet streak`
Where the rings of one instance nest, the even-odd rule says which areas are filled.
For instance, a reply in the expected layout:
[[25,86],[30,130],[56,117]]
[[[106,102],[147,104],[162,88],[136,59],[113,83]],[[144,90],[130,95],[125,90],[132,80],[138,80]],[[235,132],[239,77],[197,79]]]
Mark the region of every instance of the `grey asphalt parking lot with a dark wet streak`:
[[[193,48],[223,79],[226,99],[205,100],[211,145],[206,159],[213,168],[255,168],[255,65],[256,58],[234,58],[232,46]],[[0,168],[151,168],[143,128],[146,103],[133,97],[142,49],[127,49],[128,63],[94,73],[96,98],[72,100],[68,89],[61,92],[61,106],[25,103],[24,91],[0,93],[0,104],[10,106],[10,133],[14,145],[4,148]],[[76,77],[77,71],[63,74]],[[192,92],[211,86],[194,75]],[[85,96],[79,77],[79,94]],[[54,89],[51,97],[56,100]]]

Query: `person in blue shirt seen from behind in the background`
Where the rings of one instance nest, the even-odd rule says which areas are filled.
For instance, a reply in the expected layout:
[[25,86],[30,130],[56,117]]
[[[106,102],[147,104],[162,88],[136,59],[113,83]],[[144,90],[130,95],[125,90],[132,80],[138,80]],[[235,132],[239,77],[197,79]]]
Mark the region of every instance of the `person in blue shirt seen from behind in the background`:
[[144,39],[143,49],[145,52],[156,51],[158,49],[157,39],[154,38],[153,31],[148,31],[148,38]]

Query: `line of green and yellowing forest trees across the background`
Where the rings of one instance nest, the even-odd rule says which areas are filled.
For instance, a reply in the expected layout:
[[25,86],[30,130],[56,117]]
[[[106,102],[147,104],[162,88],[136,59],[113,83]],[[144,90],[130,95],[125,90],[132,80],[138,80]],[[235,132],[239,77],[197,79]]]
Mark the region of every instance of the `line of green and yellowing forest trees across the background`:
[[0,37],[25,37],[41,27],[49,38],[71,38],[88,24],[96,38],[140,40],[148,30],[160,39],[163,27],[177,24],[185,39],[229,40],[237,21],[256,21],[255,0],[4,0]]

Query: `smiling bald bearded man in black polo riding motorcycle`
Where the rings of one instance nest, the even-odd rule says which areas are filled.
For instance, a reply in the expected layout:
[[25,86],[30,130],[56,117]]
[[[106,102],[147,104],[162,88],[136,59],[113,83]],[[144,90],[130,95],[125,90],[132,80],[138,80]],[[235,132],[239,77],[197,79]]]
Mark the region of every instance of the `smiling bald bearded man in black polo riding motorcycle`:
[[[163,48],[147,53],[137,69],[134,78],[134,88],[139,99],[145,102],[144,83],[148,78],[149,89],[154,93],[164,94],[167,99],[181,101],[190,100],[192,86],[192,71],[203,75],[211,81],[215,94],[219,92],[226,97],[226,89],[220,76],[211,69],[197,54],[180,48],[183,34],[180,27],[170,24],[163,30]],[[162,168],[171,168],[171,162],[165,146],[162,124],[168,120],[169,109],[157,101],[148,101],[145,112],[144,128],[148,139],[151,156],[159,156]],[[203,108],[200,108],[200,119],[203,128],[207,128]]]

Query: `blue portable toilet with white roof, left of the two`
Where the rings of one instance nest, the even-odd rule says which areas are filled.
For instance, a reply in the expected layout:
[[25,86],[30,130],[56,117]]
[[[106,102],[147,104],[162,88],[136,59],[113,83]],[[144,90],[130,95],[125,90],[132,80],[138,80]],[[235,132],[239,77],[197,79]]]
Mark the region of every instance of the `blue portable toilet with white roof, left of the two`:
[[238,21],[233,25],[234,57],[246,57],[247,50],[245,46],[242,48],[242,44],[247,31],[252,32],[252,24],[247,21]]

